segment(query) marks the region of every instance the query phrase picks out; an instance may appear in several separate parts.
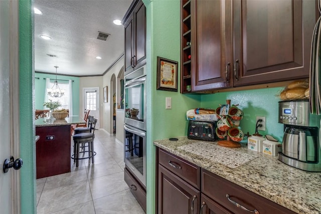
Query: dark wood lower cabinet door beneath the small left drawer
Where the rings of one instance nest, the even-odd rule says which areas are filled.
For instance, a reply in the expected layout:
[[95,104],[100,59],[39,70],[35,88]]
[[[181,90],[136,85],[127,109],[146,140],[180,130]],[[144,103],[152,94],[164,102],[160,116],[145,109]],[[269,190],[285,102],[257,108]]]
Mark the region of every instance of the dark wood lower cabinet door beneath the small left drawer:
[[158,165],[158,213],[199,213],[200,191]]

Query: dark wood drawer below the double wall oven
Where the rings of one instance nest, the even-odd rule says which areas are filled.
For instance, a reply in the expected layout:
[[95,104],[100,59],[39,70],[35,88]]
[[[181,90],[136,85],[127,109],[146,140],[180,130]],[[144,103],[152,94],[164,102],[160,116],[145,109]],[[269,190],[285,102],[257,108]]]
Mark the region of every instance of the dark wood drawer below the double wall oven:
[[125,168],[124,179],[130,188],[131,193],[135,196],[140,206],[146,212],[146,191],[140,186],[136,179]]

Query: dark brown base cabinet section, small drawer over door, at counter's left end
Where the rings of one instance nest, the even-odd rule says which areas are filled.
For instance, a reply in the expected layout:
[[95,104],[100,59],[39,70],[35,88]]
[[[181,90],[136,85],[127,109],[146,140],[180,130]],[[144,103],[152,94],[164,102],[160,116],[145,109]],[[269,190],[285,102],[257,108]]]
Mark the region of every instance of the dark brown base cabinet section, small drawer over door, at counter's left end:
[[200,167],[164,150],[157,152],[158,213],[199,213]]

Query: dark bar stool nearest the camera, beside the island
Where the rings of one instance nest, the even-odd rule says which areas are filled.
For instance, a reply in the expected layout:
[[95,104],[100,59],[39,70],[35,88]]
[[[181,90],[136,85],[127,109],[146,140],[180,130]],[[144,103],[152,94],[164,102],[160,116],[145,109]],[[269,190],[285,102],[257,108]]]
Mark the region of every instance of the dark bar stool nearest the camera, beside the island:
[[[73,135],[73,141],[74,141],[74,153],[71,155],[71,158],[76,162],[76,167],[79,165],[79,160],[82,159],[91,159],[91,162],[94,163],[95,159],[94,156],[96,155],[96,152],[94,151],[94,139],[95,139],[95,126],[97,123],[97,119],[94,117],[90,118],[91,123],[91,130],[92,132],[83,132]],[[80,148],[83,150],[80,151]],[[87,150],[86,150],[87,148]],[[83,153],[84,155],[88,152],[88,156],[80,157],[80,154]]]

